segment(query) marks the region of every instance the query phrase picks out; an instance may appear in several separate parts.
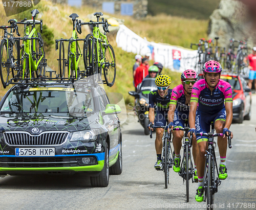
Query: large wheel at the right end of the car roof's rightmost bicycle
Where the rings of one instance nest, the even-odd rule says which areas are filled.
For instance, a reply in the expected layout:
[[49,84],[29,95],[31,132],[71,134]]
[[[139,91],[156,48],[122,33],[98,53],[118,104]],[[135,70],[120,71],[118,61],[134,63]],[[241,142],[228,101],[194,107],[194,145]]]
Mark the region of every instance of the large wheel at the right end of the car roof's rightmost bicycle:
[[104,64],[103,71],[106,85],[112,87],[116,79],[116,57],[110,44],[105,48]]

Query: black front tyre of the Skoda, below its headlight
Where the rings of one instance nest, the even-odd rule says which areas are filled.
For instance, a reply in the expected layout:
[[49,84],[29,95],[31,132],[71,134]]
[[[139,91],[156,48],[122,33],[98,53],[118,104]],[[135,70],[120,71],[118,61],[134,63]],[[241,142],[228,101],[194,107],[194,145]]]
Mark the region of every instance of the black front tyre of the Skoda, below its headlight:
[[105,143],[105,158],[104,167],[100,172],[99,176],[91,176],[92,186],[108,186],[110,179],[110,168],[109,168],[109,147],[108,143]]

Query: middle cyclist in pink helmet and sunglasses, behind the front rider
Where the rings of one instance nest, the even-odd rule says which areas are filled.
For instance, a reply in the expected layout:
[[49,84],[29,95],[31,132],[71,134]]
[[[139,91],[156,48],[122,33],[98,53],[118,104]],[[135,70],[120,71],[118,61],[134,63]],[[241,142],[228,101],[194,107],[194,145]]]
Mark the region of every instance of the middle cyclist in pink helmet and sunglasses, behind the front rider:
[[[181,74],[182,84],[173,88],[172,97],[170,98],[170,105],[168,111],[168,127],[173,132],[173,144],[174,144],[174,166],[175,172],[180,172],[180,149],[182,146],[182,138],[184,132],[182,130],[173,131],[173,128],[184,128],[185,120],[188,120],[190,98],[193,85],[198,79],[197,73],[192,69],[187,69]],[[168,130],[169,131],[169,130]],[[192,141],[193,144],[193,157],[196,162],[198,155],[198,145],[196,138]],[[197,168],[195,164],[194,180],[198,182]]]

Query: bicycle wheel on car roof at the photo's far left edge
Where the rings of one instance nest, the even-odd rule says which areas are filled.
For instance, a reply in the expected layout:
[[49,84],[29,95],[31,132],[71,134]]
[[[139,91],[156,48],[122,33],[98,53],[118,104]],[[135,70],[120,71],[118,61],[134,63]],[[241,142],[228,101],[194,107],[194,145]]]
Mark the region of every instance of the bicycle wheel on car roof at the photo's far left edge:
[[3,87],[6,88],[9,80],[9,51],[7,41],[3,39],[0,44],[0,76]]

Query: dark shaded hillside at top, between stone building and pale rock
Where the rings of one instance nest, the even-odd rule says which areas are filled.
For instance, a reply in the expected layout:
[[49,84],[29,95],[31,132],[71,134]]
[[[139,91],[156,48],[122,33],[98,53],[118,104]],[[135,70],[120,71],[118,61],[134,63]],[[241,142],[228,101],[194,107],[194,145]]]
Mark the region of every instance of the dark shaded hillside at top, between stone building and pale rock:
[[164,13],[186,18],[209,19],[219,3],[220,0],[148,0],[147,10],[150,15]]

